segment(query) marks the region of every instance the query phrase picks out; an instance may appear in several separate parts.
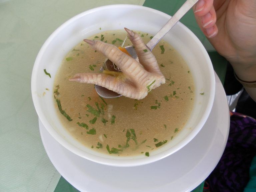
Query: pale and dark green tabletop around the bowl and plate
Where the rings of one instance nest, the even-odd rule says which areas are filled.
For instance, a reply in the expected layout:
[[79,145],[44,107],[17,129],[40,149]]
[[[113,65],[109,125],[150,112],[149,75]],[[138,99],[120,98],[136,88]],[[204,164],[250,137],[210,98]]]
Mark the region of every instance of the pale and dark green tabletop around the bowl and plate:
[[[0,0],[0,191],[77,191],[50,162],[39,133],[30,81],[49,35],[69,18],[109,4],[135,4],[173,15],[185,0]],[[182,19],[203,43],[220,80],[226,60],[198,28],[190,10]],[[203,184],[195,191],[202,191]]]

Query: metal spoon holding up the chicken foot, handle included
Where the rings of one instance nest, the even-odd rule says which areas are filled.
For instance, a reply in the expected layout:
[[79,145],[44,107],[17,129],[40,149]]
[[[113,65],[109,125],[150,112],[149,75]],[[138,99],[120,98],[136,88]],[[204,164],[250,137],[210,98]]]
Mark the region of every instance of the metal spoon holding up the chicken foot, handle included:
[[[157,34],[146,44],[147,48],[152,51],[152,49],[156,46],[156,44],[168,33],[171,28],[193,7],[193,5],[196,4],[198,0],[187,0],[180,8],[179,10],[171,17],[171,19],[157,32]],[[127,46],[125,49],[128,51],[128,53],[138,61],[137,53],[133,46]],[[103,70],[109,70],[109,71],[117,71],[121,72],[121,70],[109,59],[103,64],[100,71]],[[99,94],[99,96],[104,98],[116,98],[120,97],[122,95],[111,91],[105,87],[95,85],[96,92]]]

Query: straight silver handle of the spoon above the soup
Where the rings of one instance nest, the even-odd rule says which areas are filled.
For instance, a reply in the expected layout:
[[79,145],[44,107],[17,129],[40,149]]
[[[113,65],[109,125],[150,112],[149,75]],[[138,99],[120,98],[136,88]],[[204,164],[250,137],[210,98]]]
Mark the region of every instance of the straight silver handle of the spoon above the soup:
[[170,31],[170,29],[196,4],[198,0],[187,0],[171,19],[157,32],[157,34],[146,44],[150,51]]

